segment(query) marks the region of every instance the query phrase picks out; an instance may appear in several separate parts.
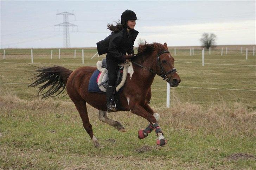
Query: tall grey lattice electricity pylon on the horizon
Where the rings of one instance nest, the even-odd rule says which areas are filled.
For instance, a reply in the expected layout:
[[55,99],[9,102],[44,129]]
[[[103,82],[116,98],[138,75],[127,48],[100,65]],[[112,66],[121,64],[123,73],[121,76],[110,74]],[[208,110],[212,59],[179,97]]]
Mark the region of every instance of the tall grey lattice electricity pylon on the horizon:
[[64,36],[63,37],[64,38],[63,45],[64,45],[64,47],[68,48],[68,47],[70,47],[69,27],[77,27],[77,25],[69,23],[69,15],[74,15],[74,14],[69,13],[69,12],[62,12],[62,13],[58,13],[56,15],[63,15],[63,23],[59,23],[55,26],[63,27],[63,36]]

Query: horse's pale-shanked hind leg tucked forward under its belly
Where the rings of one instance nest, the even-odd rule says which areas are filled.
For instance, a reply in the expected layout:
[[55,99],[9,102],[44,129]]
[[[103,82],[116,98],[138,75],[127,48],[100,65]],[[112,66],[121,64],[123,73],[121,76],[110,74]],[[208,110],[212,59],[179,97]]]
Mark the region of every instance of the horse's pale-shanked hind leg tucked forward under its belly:
[[98,118],[100,121],[105,122],[105,123],[115,127],[119,131],[127,132],[126,129],[123,127],[123,125],[120,122],[117,122],[117,121],[109,118],[108,113],[106,111],[99,110]]

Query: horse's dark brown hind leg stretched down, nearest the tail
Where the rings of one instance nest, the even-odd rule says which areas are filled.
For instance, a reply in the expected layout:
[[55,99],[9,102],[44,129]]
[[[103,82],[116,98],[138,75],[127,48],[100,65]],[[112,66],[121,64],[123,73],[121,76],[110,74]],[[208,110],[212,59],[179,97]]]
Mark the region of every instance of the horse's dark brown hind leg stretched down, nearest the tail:
[[91,124],[88,117],[86,102],[84,100],[74,101],[76,109],[79,112],[80,117],[83,121],[83,127],[91,137],[92,142],[94,143],[95,147],[100,147],[100,144],[98,143],[96,137],[93,135]]

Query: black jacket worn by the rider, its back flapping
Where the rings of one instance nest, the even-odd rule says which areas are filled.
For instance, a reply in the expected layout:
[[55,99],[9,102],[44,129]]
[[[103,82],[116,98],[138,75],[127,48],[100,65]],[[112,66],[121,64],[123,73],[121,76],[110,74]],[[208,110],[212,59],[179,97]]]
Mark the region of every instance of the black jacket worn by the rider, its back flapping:
[[106,58],[115,57],[122,61],[123,55],[134,53],[133,45],[138,34],[139,32],[134,29],[128,33],[127,28],[122,28],[119,32],[112,32],[107,38],[97,42],[98,54],[107,53]]

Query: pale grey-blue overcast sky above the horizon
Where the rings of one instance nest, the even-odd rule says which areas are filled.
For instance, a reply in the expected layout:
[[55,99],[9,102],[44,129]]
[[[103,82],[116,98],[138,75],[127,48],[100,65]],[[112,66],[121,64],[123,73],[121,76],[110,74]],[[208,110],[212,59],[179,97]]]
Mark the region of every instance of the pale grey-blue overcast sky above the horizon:
[[[0,0],[0,48],[61,48],[63,22],[70,12],[70,47],[96,47],[110,35],[108,23],[126,10],[137,18],[139,40],[168,46],[199,46],[203,33],[217,45],[256,44],[256,1],[11,1]],[[78,32],[77,32],[78,30]]]

